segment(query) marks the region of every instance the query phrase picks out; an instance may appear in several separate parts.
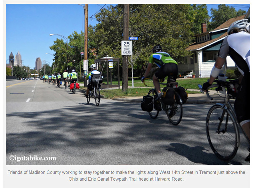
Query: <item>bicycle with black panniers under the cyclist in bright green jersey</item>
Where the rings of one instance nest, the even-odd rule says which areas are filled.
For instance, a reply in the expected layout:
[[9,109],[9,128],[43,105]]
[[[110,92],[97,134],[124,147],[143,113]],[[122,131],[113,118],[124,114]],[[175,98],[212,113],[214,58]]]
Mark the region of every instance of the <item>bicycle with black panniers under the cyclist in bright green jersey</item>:
[[[145,80],[148,80],[151,78],[145,78]],[[144,85],[145,84],[144,80]],[[156,89],[150,89],[148,91],[148,95],[153,98],[153,110],[151,112],[148,112],[150,117],[153,119],[156,119],[158,116],[159,112],[161,110],[164,110],[165,113],[167,114],[167,117],[169,121],[173,125],[178,125],[182,119],[182,113],[183,113],[183,108],[182,108],[182,99],[178,93],[178,83],[175,82],[174,80],[167,80],[167,83],[160,83],[161,85],[166,85],[167,87],[172,87],[174,89],[174,103],[172,105],[167,105],[164,104],[163,100],[160,98],[158,101],[156,101],[156,98],[158,97]],[[146,85],[147,86],[147,85]],[[161,105],[161,106],[160,106]],[[160,107],[159,107],[160,106]]]

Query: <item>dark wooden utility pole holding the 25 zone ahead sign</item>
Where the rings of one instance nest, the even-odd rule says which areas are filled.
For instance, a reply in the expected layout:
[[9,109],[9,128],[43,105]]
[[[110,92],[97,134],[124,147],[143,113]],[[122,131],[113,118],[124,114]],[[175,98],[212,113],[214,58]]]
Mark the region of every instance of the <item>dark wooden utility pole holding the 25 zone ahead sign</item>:
[[[124,4],[124,40],[129,39],[129,4]],[[122,90],[128,89],[128,55],[123,56]]]

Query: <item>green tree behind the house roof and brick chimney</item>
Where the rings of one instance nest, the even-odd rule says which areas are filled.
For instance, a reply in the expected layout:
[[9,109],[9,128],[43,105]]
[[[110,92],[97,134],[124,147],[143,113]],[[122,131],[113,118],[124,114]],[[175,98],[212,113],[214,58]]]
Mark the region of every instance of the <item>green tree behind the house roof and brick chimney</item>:
[[246,14],[246,11],[239,9],[238,11],[235,8],[226,6],[226,4],[219,4],[218,9],[211,9],[212,13],[212,22],[209,25],[209,29],[213,30],[224,22],[228,21],[230,18],[235,18],[237,16],[242,16]]

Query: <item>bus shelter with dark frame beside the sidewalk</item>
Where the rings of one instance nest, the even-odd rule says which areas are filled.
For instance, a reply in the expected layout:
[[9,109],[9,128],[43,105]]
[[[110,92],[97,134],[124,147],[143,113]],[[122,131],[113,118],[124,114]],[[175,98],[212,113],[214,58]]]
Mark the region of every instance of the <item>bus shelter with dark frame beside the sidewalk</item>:
[[[114,57],[102,57],[94,61],[96,64],[97,70],[102,72],[102,69],[106,70],[107,74],[107,85],[102,84],[101,88],[111,88],[111,87],[118,87],[120,89],[120,74],[119,74],[119,58]],[[114,67],[114,63],[117,63],[117,78],[118,78],[118,85],[112,84],[112,69]],[[103,67],[104,66],[104,67]],[[110,79],[109,79],[110,78]]]

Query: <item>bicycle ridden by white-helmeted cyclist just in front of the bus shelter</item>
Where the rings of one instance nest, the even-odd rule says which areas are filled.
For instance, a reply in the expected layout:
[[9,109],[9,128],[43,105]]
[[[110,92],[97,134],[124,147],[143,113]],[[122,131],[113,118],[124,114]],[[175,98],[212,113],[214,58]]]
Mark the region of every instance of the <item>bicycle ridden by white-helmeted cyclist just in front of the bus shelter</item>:
[[100,78],[96,78],[92,76],[91,78],[91,83],[93,85],[93,89],[92,90],[89,90],[89,95],[88,97],[86,98],[87,100],[87,104],[90,103],[90,98],[94,98],[95,99],[95,104],[96,106],[99,106],[100,105],[100,86],[101,86],[101,83],[102,83],[102,79]]

